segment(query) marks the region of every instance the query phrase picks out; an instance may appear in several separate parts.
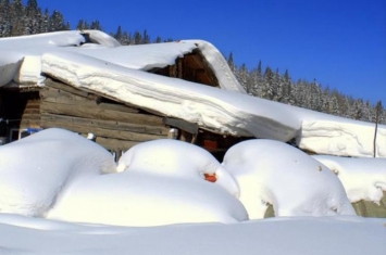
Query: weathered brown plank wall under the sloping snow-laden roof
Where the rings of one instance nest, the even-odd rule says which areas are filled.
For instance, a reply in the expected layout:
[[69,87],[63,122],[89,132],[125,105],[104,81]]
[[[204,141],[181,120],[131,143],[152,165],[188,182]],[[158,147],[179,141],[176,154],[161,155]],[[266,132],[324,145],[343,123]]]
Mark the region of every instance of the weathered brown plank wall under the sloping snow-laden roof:
[[163,117],[52,79],[46,80],[40,98],[42,128],[65,128],[83,136],[91,132],[110,151],[126,151],[139,142],[167,138]]

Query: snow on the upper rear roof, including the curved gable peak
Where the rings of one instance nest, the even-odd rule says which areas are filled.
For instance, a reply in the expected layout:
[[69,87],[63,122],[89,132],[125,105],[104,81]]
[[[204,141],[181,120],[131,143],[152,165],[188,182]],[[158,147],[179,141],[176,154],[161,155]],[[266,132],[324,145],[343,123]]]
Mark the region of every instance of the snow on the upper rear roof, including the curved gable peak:
[[[174,65],[178,58],[196,51],[213,72],[219,87],[246,92],[221,52],[202,40],[121,46],[102,31],[72,30],[0,39],[0,87],[12,80],[20,85],[41,85],[45,74],[41,74],[38,62],[45,53],[74,52],[122,67],[148,72]],[[28,60],[28,63],[24,63],[25,60]]]

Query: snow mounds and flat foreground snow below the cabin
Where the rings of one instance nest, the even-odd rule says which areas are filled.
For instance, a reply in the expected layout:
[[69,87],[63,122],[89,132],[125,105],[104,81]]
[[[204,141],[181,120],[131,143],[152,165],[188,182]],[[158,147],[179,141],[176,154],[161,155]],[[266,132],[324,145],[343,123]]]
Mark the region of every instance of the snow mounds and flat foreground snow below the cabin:
[[[328,169],[317,162],[325,157],[250,140],[221,164],[194,144],[158,140],[115,164],[100,145],[55,128],[2,145],[0,155],[0,254],[385,252],[386,220],[356,216],[345,191],[350,181],[385,189],[381,158]],[[279,217],[262,219],[266,203]]]

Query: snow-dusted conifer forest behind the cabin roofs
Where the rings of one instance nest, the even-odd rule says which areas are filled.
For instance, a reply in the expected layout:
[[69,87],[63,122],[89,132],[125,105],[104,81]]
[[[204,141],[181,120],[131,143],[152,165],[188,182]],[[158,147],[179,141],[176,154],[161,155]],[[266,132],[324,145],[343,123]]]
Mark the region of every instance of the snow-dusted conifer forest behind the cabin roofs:
[[[99,21],[89,23],[85,20],[79,20],[74,28],[103,30]],[[23,0],[0,0],[0,37],[69,29],[72,29],[72,25],[65,22],[60,11],[42,11],[37,0],[28,0],[26,4],[23,4]],[[117,26],[115,31],[105,33],[124,46],[172,41],[171,38],[162,39],[160,36],[151,40],[147,30],[129,33],[121,26]],[[372,104],[369,100],[354,99],[322,86],[316,80],[294,81],[288,71],[281,73],[270,66],[262,66],[261,61],[252,68],[246,64],[237,66],[233,53],[226,60],[239,82],[251,95],[364,122],[375,122],[378,115],[378,122],[386,124],[386,111],[381,101]]]

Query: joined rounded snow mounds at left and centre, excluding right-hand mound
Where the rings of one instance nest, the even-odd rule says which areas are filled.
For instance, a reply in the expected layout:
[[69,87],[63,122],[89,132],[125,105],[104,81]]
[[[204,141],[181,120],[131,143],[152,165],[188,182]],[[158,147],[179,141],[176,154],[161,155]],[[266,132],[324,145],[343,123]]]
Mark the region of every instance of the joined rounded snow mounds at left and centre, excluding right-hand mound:
[[[141,154],[139,146],[129,170],[116,174],[113,157],[97,143],[46,129],[0,146],[0,212],[119,226],[247,220],[232,176],[207,151],[186,144],[145,143],[146,152],[160,152],[159,146],[146,150],[157,145],[171,150],[162,155],[164,165],[152,161],[157,155]],[[186,154],[173,154],[176,150]],[[136,169],[138,157],[149,165]],[[160,173],[154,173],[157,166]],[[200,176],[207,171],[217,174],[219,183]]]

